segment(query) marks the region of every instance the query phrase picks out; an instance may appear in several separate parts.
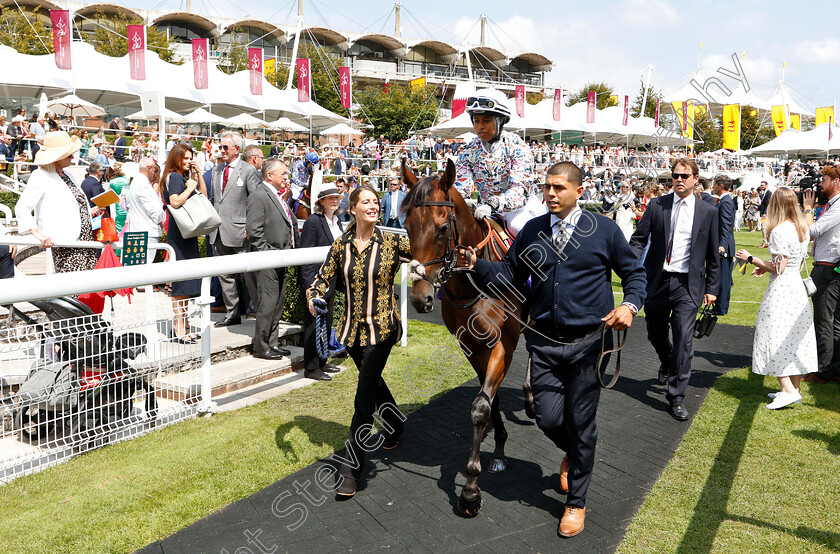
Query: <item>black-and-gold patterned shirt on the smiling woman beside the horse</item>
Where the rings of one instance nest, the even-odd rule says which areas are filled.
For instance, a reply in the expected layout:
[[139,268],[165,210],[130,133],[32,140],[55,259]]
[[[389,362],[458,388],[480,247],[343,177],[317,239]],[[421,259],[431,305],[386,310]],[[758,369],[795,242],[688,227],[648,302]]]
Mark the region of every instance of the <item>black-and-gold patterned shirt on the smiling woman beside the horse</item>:
[[[309,289],[309,300],[323,296],[330,282],[342,277],[336,290],[344,290],[344,313],[339,320],[339,340],[348,346],[379,344],[400,332],[400,316],[394,299],[394,276],[400,257],[411,258],[408,237],[374,229],[362,251],[356,248],[352,230],[333,242],[327,259]],[[342,286],[343,285],[343,286]]]

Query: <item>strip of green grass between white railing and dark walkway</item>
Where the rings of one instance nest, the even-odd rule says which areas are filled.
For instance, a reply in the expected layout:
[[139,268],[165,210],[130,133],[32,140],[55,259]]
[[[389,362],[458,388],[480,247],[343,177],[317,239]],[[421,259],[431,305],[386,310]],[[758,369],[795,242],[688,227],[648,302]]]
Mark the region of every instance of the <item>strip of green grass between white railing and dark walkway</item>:
[[[454,355],[438,351],[445,344]],[[384,373],[403,413],[474,376],[442,326],[410,321],[409,345],[394,347]],[[0,551],[132,551],[254,494],[342,447],[357,375],[353,368],[0,487]]]

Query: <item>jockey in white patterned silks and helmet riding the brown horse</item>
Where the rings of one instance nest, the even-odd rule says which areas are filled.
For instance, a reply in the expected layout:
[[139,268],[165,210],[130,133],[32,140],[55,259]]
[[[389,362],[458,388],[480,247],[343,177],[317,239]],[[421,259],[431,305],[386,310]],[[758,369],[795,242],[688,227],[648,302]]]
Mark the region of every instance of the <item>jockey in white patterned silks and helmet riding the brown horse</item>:
[[506,102],[505,95],[493,89],[467,99],[466,112],[478,136],[459,152],[455,188],[465,198],[478,190],[476,219],[498,212],[509,224],[517,219],[518,224],[511,225],[517,232],[524,225],[517,216],[535,192],[534,156],[518,135],[504,130],[510,121]]

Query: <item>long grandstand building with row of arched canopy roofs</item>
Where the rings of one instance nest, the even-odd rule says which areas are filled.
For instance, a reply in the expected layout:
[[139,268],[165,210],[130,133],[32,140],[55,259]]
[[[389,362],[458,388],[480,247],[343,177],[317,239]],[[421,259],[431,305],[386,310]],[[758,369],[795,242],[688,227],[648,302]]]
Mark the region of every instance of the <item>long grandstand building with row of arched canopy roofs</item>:
[[[262,47],[266,60],[277,60],[280,64],[291,62],[296,25],[278,24],[259,19],[228,19],[205,16],[193,11],[156,11],[133,9],[109,3],[79,3],[51,0],[0,0],[0,6],[36,12],[49,29],[50,9],[68,9],[73,13],[76,37],[79,33],[90,33],[97,25],[98,17],[113,18],[125,16],[143,20],[146,25],[164,31],[173,39],[176,54],[189,61],[190,40],[210,39],[212,55],[220,65],[228,63],[232,45],[248,44]],[[189,0],[187,2],[189,6]],[[469,81],[469,72],[477,87],[494,86],[513,93],[518,84],[524,84],[529,92],[538,92],[545,87],[545,73],[552,68],[552,62],[537,52],[503,51],[485,43],[486,18],[481,16],[481,40],[479,44],[449,44],[432,38],[409,39],[403,37],[400,29],[400,4],[394,6],[394,34],[354,33],[325,27],[303,25],[300,30],[300,44],[315,46],[344,59],[351,67],[356,83],[362,82],[408,82],[425,77],[427,84],[439,87],[444,105],[452,99],[456,85]],[[299,5],[299,16],[302,11]],[[282,86],[282,83],[281,83]]]

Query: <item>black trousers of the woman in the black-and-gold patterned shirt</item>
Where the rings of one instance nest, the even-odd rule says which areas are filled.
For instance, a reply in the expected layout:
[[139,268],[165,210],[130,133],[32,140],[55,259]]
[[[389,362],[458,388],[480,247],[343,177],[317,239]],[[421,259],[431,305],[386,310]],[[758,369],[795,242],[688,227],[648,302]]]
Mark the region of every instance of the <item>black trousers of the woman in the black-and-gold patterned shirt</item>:
[[398,340],[399,331],[392,333],[385,342],[374,346],[359,346],[357,343],[347,347],[347,352],[359,368],[359,384],[356,387],[356,399],[353,402],[355,412],[350,423],[348,439],[359,465],[355,469],[342,465],[342,475],[352,475],[354,479],[358,479],[361,475],[365,465],[366,450],[372,451],[371,447],[377,444],[377,441],[371,440],[370,437],[373,414],[377,410],[385,423],[383,430],[385,437],[396,438],[402,434],[403,418],[400,417],[397,402],[382,378],[382,371],[385,369],[391,347]]

